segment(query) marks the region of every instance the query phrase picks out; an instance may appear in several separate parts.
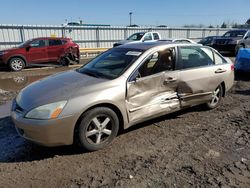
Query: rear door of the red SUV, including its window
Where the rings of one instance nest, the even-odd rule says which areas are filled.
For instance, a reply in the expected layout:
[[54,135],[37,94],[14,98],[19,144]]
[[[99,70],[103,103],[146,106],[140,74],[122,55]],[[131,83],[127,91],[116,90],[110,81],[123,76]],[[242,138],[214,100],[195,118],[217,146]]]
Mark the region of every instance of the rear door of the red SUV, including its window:
[[48,58],[49,61],[57,61],[64,54],[65,42],[60,39],[49,39]]

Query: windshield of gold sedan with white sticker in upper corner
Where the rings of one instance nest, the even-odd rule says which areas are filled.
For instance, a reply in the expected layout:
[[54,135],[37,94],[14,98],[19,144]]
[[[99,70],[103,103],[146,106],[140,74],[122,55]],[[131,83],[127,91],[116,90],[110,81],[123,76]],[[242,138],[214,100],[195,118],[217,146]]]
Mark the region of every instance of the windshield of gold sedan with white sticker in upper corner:
[[134,49],[113,48],[76,71],[97,78],[115,79],[135,62],[142,52]]

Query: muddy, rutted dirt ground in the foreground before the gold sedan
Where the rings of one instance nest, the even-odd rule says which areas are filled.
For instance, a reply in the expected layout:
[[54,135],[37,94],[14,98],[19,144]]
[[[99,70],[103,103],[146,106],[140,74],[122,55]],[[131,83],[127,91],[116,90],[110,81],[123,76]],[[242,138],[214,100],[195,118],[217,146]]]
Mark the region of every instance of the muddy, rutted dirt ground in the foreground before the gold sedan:
[[90,153],[31,144],[2,118],[0,187],[250,187],[249,99],[245,75],[217,109],[136,125]]

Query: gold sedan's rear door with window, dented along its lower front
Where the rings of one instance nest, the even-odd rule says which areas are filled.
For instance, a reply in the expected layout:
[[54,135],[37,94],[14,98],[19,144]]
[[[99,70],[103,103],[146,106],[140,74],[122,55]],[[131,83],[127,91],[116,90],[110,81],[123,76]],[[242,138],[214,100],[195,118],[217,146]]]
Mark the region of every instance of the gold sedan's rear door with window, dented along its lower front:
[[177,69],[180,70],[178,96],[182,107],[210,101],[227,72],[223,63],[215,64],[210,48],[199,46],[179,47]]

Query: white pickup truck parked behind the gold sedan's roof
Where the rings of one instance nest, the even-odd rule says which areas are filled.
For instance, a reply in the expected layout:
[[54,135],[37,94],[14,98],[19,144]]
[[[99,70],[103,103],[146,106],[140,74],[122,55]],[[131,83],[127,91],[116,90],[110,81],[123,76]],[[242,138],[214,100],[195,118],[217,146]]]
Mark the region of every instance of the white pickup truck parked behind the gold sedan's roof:
[[158,32],[139,32],[139,33],[134,33],[126,40],[114,43],[113,46],[116,47],[128,43],[152,42],[160,39],[161,35]]

